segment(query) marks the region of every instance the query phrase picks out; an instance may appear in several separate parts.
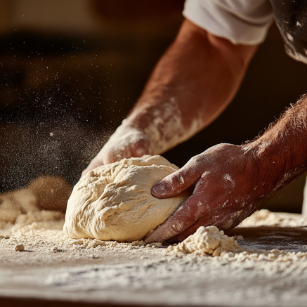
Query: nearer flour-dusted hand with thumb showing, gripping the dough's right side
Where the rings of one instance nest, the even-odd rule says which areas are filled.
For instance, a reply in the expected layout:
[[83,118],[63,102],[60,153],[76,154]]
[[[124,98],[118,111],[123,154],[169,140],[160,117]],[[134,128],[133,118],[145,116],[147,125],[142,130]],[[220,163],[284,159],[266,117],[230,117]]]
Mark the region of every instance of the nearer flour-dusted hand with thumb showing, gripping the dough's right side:
[[145,242],[181,242],[200,226],[220,230],[237,226],[263,200],[259,169],[257,158],[243,146],[220,144],[192,157],[152,188],[153,196],[166,198],[195,185],[188,200]]

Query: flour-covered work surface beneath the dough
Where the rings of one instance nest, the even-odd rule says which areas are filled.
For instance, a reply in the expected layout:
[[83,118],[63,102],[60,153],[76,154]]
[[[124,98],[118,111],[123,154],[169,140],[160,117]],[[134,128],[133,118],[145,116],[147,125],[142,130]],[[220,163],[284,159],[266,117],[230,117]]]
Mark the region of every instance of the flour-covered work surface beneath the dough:
[[[263,211],[252,224],[247,220],[228,231],[243,236],[237,237],[242,252],[212,257],[172,254],[159,244],[72,240],[56,213],[35,214],[2,230],[0,296],[143,306],[303,306],[307,301],[307,223],[299,216]],[[16,252],[17,244],[25,252]]]

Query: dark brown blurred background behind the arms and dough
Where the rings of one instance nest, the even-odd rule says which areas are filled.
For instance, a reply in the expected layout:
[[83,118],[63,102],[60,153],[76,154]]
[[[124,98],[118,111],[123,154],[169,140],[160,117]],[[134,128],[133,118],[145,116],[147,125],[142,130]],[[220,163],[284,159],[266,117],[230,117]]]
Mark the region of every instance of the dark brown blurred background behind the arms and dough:
[[[0,0],[0,192],[42,175],[77,183],[176,36],[183,3]],[[306,73],[273,25],[226,112],[164,157],[183,166],[217,143],[254,138],[306,92]],[[269,209],[301,212],[304,183]]]

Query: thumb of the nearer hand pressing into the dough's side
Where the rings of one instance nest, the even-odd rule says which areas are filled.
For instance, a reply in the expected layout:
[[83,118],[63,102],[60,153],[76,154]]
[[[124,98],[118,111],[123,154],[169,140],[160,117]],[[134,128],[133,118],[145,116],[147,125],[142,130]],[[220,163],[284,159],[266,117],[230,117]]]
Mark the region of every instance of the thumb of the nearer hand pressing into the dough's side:
[[205,163],[202,157],[192,157],[182,169],[166,176],[152,188],[157,198],[173,197],[190,188],[204,173]]

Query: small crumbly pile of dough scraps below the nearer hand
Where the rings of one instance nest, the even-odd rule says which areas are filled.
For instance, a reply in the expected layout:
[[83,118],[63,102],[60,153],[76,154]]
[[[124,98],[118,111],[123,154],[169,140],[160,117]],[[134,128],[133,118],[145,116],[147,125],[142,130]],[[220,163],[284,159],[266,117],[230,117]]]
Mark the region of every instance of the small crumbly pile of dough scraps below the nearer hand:
[[196,233],[178,245],[169,246],[170,254],[210,254],[220,256],[221,252],[240,252],[241,248],[234,237],[224,235],[215,226],[200,226]]

